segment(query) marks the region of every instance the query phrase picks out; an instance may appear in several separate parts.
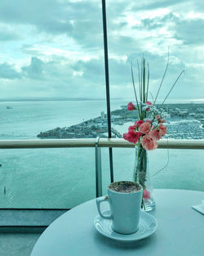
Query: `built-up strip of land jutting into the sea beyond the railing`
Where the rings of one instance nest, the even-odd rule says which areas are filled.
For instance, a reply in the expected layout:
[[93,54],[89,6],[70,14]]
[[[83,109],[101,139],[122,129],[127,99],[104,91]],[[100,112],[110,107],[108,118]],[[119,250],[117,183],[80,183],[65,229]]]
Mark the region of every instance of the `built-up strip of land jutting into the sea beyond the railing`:
[[[171,118],[166,120],[168,135],[164,138],[187,140],[204,138],[204,104],[198,107],[197,104],[166,104],[162,107],[171,115]],[[37,137],[42,139],[108,137],[107,116],[104,111],[100,114],[80,124],[40,132]],[[137,111],[129,111],[126,106],[111,111],[112,137],[122,138],[122,133],[126,132],[128,126],[134,124],[136,119]]]

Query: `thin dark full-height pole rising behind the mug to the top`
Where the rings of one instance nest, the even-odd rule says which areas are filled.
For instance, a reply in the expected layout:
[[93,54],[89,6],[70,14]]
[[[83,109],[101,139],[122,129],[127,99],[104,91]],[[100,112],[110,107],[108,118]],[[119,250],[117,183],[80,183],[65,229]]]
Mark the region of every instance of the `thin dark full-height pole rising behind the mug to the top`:
[[[109,138],[111,138],[111,115],[110,115],[110,92],[109,92],[109,55],[108,55],[105,0],[102,0],[102,14],[103,14],[103,28],[104,28],[104,67],[105,67],[108,132],[109,132]],[[109,164],[110,164],[110,180],[111,180],[111,182],[113,182],[113,150],[112,150],[112,147],[109,147]]]

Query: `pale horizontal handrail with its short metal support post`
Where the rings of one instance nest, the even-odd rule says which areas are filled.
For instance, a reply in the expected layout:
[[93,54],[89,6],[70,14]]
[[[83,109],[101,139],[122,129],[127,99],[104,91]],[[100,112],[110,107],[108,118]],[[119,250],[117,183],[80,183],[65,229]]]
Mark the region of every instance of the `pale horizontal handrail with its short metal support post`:
[[[95,147],[95,195],[102,195],[101,147],[134,148],[135,144],[118,138],[2,140],[0,149]],[[159,149],[204,150],[204,140],[162,140]]]

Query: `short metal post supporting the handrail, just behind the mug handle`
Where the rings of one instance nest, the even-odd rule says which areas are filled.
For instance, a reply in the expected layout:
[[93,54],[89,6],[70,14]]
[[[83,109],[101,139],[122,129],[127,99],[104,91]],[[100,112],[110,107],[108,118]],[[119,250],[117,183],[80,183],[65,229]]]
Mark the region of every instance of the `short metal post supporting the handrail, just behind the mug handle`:
[[99,147],[100,137],[95,139],[95,195],[102,196],[102,172],[101,172],[101,150]]

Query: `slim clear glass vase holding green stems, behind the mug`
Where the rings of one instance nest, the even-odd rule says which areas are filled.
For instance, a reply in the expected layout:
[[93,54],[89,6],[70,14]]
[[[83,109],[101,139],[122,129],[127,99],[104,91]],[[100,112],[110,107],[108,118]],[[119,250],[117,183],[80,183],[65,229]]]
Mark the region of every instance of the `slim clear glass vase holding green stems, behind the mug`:
[[133,173],[133,181],[143,186],[143,207],[149,212],[155,208],[155,200],[153,199],[153,186],[149,173],[148,152],[139,144],[135,146],[135,166]]

